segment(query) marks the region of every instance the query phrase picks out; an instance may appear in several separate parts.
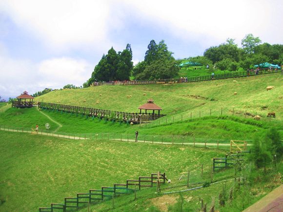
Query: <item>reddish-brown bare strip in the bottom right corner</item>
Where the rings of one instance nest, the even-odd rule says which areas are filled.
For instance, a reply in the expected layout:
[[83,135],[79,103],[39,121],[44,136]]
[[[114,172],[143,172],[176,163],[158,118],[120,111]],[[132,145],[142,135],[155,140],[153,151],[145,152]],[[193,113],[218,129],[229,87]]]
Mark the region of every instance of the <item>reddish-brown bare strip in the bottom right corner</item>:
[[243,212],[283,212],[283,185],[268,193]]

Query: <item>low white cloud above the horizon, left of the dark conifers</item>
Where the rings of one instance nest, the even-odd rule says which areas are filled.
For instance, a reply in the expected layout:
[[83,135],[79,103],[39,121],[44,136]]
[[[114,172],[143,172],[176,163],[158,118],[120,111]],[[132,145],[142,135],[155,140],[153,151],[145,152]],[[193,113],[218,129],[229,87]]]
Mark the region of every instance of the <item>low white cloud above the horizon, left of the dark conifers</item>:
[[25,90],[34,94],[66,84],[80,86],[92,72],[90,64],[75,58],[51,58],[33,63],[0,54],[0,64],[0,96],[5,98],[18,96]]

